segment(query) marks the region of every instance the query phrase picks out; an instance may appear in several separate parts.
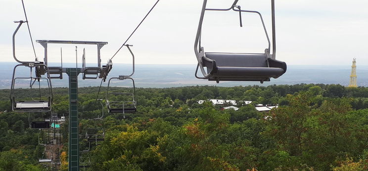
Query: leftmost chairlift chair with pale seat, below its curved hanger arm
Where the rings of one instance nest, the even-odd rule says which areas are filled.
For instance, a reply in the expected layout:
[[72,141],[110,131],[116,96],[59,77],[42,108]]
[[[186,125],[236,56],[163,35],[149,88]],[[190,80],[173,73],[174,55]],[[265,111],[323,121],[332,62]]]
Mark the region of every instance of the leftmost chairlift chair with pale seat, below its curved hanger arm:
[[[19,66],[25,66],[31,68],[31,76],[30,77],[18,77],[15,78],[15,71],[16,68]],[[32,68],[35,68],[36,76],[32,75]],[[41,77],[42,74],[47,72],[46,77]],[[40,100],[19,100],[15,97],[15,81],[16,80],[25,80],[29,79],[33,81],[30,84],[30,88],[32,90],[32,86],[36,81],[46,81],[48,86],[48,96],[47,99],[43,100],[42,97]],[[40,94],[41,96],[41,94]],[[11,89],[10,89],[10,101],[12,102],[12,110],[14,112],[49,112],[51,111],[51,104],[52,104],[52,86],[50,75],[48,74],[48,68],[43,63],[27,63],[27,64],[18,64],[14,67],[13,70],[13,77],[11,82]]]

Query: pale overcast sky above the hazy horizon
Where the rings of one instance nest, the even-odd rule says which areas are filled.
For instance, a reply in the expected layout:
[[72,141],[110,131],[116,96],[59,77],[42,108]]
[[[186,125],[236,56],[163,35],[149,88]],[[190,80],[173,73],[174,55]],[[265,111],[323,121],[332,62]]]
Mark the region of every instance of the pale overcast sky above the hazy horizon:
[[[262,13],[271,38],[271,0],[239,0],[246,10]],[[102,64],[125,42],[156,0],[24,0],[37,56],[36,40],[108,42]],[[160,0],[128,41],[137,64],[196,64],[193,50],[202,0]],[[207,7],[228,8],[232,0],[208,0]],[[367,0],[276,0],[276,59],[288,65],[368,65]],[[267,39],[259,17],[235,11],[206,12],[202,46],[211,52],[263,53]],[[0,0],[0,61],[14,61],[13,21],[25,20],[21,0]],[[75,62],[75,45],[50,45],[48,61]],[[96,62],[96,47],[78,45],[78,62]],[[34,60],[26,24],[16,36],[20,60]],[[42,60],[41,60],[42,61]],[[131,63],[124,47],[113,63]]]

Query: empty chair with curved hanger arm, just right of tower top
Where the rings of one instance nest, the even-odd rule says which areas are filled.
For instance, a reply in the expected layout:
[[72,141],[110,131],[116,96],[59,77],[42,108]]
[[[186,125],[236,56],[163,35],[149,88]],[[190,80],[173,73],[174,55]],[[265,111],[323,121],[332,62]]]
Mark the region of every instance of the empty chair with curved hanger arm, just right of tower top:
[[[134,71],[135,71],[135,59],[134,59],[134,54],[132,52],[132,50],[130,49],[129,44],[126,44],[127,48],[129,49],[130,53],[132,54],[133,57],[133,72],[128,75],[128,76],[119,76],[119,77],[115,77],[115,78],[110,78],[108,85],[107,85],[107,92],[106,92],[106,105],[107,105],[107,109],[109,113],[123,113],[123,119],[126,119],[125,117],[125,113],[134,113],[137,111],[137,107],[136,107],[136,101],[135,101],[135,94],[136,94],[136,86],[134,83],[133,78],[130,78],[131,76],[133,76]],[[133,82],[133,90],[134,92],[109,92],[109,88],[110,88],[110,84],[111,84],[111,80],[127,80],[130,79]],[[123,96],[131,96],[130,100],[124,100],[124,101],[111,101],[110,100],[110,96],[115,95],[123,95]]]

